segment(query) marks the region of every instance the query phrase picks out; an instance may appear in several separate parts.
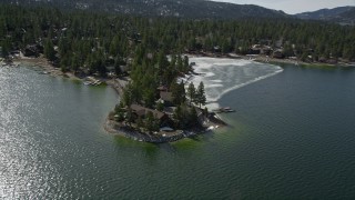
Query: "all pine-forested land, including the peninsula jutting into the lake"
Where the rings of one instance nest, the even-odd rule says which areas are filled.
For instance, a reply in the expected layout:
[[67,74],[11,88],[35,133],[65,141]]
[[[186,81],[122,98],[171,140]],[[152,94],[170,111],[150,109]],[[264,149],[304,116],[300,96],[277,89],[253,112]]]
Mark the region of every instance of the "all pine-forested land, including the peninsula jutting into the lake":
[[325,22],[143,18],[6,3],[0,22],[0,57],[6,61],[41,58],[53,73],[90,77],[88,83],[94,84],[101,81],[92,77],[109,80],[121,101],[109,114],[106,130],[124,134],[135,130],[143,137],[134,138],[151,142],[174,141],[223,124],[203,109],[203,82],[181,81],[194,73],[184,54],[262,62],[355,61],[354,27]]

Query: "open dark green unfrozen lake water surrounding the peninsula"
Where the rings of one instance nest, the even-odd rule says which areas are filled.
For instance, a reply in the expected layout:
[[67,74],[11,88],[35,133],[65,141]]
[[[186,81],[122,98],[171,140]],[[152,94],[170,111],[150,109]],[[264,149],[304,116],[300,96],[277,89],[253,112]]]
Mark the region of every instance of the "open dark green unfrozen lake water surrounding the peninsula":
[[155,146],[102,129],[111,88],[0,68],[0,199],[352,199],[354,77],[285,66],[219,100],[229,128]]

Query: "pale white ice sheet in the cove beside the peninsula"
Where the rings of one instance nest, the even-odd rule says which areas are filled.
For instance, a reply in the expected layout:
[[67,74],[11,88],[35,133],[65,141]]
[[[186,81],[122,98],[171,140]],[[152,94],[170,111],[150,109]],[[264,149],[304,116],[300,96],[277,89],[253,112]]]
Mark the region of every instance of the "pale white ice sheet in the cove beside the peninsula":
[[242,59],[194,57],[189,60],[195,62],[194,71],[200,76],[185,78],[184,82],[192,81],[197,87],[203,81],[210,109],[217,108],[217,100],[225,93],[283,71],[278,66]]

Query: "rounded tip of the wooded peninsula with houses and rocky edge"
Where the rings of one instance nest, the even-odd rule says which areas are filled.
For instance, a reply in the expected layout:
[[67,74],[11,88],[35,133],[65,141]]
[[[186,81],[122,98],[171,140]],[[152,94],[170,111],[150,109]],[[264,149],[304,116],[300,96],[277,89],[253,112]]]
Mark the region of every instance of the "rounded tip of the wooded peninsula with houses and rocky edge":
[[215,112],[210,112],[206,107],[201,108],[206,101],[203,82],[197,89],[190,82],[185,92],[184,82],[178,83],[173,79],[170,88],[160,86],[149,97],[140,97],[138,88],[129,78],[111,79],[108,83],[121,97],[120,103],[110,112],[104,124],[110,133],[162,143],[225,126]]

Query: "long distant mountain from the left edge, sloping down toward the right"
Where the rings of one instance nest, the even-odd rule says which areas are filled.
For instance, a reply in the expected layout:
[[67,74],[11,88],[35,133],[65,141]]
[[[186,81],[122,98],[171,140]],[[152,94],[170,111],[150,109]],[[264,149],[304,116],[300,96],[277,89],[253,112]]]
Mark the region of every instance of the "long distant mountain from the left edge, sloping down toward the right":
[[282,11],[206,0],[2,0],[22,6],[45,4],[111,13],[181,17],[196,19],[285,18]]

